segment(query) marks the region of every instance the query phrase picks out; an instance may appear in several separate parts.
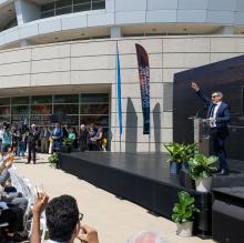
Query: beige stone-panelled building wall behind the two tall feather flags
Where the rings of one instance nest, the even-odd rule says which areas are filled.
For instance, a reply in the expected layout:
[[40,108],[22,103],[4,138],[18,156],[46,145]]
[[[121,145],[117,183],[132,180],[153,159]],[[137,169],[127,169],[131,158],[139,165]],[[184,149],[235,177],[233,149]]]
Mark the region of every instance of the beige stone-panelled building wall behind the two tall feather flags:
[[[151,138],[143,135],[135,43],[149,52]],[[55,93],[109,93],[112,151],[162,151],[173,139],[172,88],[175,72],[244,53],[244,38],[165,37],[90,40],[0,52],[0,98]],[[120,144],[116,44],[121,54],[123,134]]]

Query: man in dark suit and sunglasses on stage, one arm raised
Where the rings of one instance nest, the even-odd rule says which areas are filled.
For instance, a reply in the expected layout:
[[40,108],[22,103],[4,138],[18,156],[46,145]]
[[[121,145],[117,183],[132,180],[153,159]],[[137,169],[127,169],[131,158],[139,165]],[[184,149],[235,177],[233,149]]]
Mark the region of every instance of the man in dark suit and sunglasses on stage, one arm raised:
[[199,85],[192,82],[192,89],[209,107],[207,120],[210,121],[210,135],[213,141],[215,155],[218,156],[220,168],[217,174],[228,174],[228,165],[226,161],[225,139],[228,135],[227,122],[231,120],[231,110],[227,103],[223,102],[223,93],[214,91],[212,99],[204,95]]

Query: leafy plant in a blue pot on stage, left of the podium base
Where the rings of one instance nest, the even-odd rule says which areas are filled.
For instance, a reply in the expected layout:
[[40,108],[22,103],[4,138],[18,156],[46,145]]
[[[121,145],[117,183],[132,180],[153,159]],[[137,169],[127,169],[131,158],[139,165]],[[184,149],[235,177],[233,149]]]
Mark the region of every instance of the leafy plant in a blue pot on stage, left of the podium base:
[[187,161],[194,156],[197,144],[184,144],[184,143],[164,143],[166,151],[169,152],[170,159],[170,173],[179,173],[183,168],[187,168]]

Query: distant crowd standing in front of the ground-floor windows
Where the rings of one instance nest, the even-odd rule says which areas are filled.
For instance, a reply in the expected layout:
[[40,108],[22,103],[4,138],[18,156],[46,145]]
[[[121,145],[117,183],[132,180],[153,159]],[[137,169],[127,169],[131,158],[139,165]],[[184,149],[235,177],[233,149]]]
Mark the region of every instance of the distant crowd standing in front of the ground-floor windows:
[[103,128],[94,124],[87,128],[80,125],[78,130],[68,124],[60,126],[54,123],[53,126],[37,126],[32,124],[30,128],[23,124],[12,124],[3,122],[0,125],[0,148],[3,154],[9,148],[18,158],[24,156],[28,152],[28,161],[35,163],[37,151],[41,153],[52,153],[59,151],[62,144],[69,144],[77,151],[106,151],[108,139]]

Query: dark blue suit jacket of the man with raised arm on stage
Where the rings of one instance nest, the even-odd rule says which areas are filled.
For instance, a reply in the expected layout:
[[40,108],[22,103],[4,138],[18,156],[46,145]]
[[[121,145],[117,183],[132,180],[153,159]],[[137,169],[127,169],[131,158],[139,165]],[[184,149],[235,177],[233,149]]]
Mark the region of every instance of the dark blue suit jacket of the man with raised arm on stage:
[[[201,90],[199,90],[196,94],[209,107],[206,118],[210,118],[211,111],[212,109],[214,109],[213,101],[210,98],[205,97]],[[221,105],[217,109],[215,119],[217,130],[227,131],[227,122],[231,120],[231,109],[227,103],[222,101]]]

